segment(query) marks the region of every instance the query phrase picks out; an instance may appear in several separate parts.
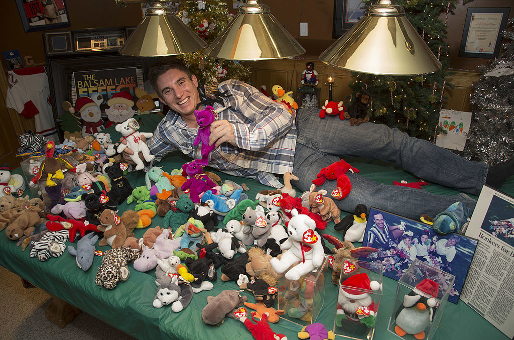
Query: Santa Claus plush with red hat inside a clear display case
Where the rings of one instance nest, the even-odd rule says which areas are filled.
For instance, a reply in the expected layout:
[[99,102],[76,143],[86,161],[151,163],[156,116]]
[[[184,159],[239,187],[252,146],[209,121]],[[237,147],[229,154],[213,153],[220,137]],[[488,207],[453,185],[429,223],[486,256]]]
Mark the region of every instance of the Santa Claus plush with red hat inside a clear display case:
[[[346,265],[352,264],[355,267],[354,263],[345,261],[342,270],[345,270]],[[373,327],[378,306],[375,306],[372,293],[381,290],[380,286],[378,281],[370,281],[366,273],[355,274],[345,279],[339,287],[336,325],[355,335],[361,335],[369,327]]]

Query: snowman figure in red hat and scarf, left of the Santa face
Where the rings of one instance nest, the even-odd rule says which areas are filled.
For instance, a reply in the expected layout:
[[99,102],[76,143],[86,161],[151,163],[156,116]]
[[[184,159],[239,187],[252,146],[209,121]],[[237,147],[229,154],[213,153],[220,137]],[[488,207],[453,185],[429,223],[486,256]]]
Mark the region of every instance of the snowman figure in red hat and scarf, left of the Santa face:
[[68,105],[68,111],[70,113],[79,113],[80,117],[82,118],[82,130],[80,131],[82,137],[93,135],[94,133],[100,132],[104,129],[102,111],[100,110],[100,104],[102,101],[102,95],[97,94],[93,96],[93,99],[89,97],[80,97],[75,102],[75,108],[72,108],[71,105]]

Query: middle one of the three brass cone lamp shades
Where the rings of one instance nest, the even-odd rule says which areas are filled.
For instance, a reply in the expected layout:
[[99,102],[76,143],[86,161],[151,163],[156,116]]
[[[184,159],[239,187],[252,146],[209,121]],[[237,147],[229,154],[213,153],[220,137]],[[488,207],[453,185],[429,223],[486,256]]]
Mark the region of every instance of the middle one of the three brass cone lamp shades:
[[247,0],[205,50],[206,56],[226,60],[280,59],[303,53],[305,49],[258,0]]

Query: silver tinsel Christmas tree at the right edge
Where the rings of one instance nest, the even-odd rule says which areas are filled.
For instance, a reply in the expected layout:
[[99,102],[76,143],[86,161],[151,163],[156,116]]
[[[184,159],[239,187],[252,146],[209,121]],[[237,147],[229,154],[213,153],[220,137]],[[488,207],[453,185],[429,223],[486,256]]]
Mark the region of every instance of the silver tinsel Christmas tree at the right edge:
[[[502,54],[482,66],[482,76],[473,83],[473,115],[463,151],[463,156],[471,160],[495,164],[514,156],[513,23],[510,19],[503,32]],[[506,75],[501,75],[502,68]]]

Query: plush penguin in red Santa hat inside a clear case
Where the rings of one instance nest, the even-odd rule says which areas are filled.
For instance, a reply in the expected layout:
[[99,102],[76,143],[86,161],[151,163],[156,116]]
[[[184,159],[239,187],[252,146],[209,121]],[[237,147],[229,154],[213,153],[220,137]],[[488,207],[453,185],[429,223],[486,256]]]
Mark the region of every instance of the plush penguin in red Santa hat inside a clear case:
[[416,288],[403,297],[403,305],[396,312],[394,331],[399,336],[412,334],[416,339],[425,338],[425,329],[432,322],[439,292],[439,284],[424,279]]

